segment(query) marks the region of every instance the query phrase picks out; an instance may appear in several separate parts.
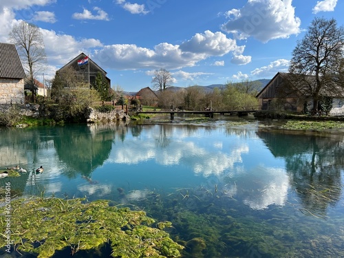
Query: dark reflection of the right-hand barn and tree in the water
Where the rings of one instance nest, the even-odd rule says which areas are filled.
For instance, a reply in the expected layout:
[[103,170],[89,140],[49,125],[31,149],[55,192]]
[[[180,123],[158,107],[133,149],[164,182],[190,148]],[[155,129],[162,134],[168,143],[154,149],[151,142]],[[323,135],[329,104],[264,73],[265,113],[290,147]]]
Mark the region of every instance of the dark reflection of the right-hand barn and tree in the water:
[[[259,130],[274,155],[286,161],[290,185],[300,197],[303,213],[325,217],[342,194],[343,136],[298,135]],[[277,140],[278,139],[278,140]]]

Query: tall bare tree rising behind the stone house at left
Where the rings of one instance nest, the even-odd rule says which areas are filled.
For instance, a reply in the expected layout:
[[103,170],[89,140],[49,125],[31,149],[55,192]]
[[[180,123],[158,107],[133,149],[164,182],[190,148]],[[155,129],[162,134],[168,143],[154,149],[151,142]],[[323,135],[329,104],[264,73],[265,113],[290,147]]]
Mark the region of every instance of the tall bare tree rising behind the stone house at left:
[[32,96],[34,96],[36,94],[34,78],[43,71],[46,62],[43,34],[36,25],[21,21],[13,26],[9,39],[17,47],[27,74],[25,83],[30,85]]

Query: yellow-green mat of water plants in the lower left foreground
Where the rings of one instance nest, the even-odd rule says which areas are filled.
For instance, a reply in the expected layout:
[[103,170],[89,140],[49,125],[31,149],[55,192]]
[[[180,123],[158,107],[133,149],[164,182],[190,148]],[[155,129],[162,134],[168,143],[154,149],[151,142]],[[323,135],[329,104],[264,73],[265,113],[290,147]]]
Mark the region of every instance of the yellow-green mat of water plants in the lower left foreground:
[[[112,257],[179,257],[183,248],[159,228],[159,222],[143,211],[109,206],[109,202],[85,199],[34,198],[13,200],[11,206],[11,240],[21,254],[33,253],[39,258],[52,257],[58,250],[79,250],[111,246]],[[1,215],[7,214],[5,206]],[[5,216],[1,216],[1,232],[6,232]],[[1,234],[3,243],[6,235]]]

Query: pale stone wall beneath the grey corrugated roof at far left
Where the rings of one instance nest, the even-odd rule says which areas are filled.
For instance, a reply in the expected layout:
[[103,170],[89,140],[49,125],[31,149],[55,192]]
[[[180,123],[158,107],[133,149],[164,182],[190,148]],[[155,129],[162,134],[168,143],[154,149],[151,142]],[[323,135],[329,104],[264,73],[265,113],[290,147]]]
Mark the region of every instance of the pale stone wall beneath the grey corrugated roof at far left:
[[24,103],[24,79],[0,78],[0,105]]

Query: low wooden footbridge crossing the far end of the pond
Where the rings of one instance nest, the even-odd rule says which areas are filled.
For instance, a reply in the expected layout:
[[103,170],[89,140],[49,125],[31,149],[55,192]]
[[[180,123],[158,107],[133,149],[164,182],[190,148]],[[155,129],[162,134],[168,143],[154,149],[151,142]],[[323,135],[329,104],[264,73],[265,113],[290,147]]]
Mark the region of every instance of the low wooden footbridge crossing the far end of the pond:
[[136,114],[170,114],[171,120],[174,120],[175,114],[204,114],[208,118],[213,118],[214,114],[219,115],[237,115],[237,116],[247,116],[249,113],[255,113],[257,110],[240,110],[240,111],[213,111],[213,110],[204,110],[204,111],[184,111],[184,110],[169,110],[169,111],[136,111]]

